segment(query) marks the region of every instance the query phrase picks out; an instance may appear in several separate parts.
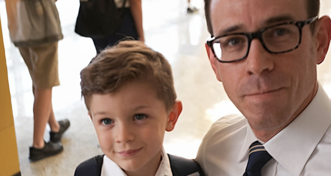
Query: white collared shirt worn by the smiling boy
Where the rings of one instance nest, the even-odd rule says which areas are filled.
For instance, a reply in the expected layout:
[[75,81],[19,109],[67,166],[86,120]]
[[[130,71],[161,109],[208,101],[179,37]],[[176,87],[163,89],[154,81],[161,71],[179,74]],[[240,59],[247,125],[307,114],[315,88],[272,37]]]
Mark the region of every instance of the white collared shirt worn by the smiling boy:
[[[161,157],[162,160],[160,162],[158,170],[156,171],[155,176],[172,176],[169,157],[166,154],[163,147],[162,147]],[[127,176],[127,175],[114,161],[112,161],[105,155],[103,157],[103,163],[101,167],[101,176]]]

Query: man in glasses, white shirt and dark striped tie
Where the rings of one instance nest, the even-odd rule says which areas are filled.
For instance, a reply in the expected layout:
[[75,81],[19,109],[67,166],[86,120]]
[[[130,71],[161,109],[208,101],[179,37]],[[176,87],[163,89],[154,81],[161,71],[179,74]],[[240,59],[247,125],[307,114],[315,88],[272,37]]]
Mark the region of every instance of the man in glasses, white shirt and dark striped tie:
[[220,118],[197,155],[207,175],[331,175],[331,102],[318,84],[331,20],[319,0],[205,0],[212,68],[244,116]]

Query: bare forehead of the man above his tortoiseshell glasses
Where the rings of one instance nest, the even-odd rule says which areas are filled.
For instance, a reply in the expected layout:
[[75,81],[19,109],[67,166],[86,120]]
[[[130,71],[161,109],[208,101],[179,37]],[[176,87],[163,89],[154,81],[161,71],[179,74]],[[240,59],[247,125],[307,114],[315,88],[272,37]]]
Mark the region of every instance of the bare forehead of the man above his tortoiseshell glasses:
[[214,36],[230,29],[256,31],[281,20],[307,18],[306,0],[211,0]]

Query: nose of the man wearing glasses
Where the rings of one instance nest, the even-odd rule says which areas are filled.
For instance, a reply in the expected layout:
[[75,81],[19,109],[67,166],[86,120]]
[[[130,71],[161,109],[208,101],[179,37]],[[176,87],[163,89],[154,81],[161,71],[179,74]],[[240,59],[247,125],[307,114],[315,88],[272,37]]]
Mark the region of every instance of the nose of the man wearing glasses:
[[259,39],[253,39],[246,58],[247,72],[249,74],[261,74],[272,71],[274,61],[270,55]]

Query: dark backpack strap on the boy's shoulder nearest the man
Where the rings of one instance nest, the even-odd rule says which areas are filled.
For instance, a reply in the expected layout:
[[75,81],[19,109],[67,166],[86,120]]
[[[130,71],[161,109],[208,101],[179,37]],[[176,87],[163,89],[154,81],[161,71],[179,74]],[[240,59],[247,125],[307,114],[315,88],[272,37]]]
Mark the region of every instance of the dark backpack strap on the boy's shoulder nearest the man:
[[168,156],[173,176],[204,176],[198,162],[174,155]]

